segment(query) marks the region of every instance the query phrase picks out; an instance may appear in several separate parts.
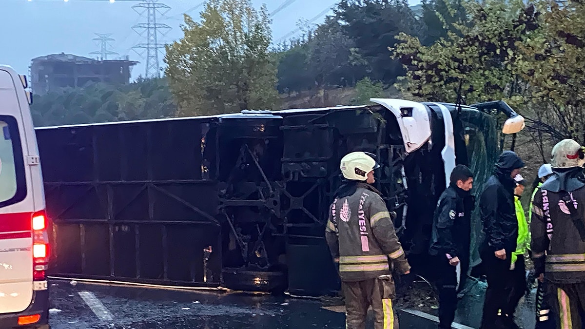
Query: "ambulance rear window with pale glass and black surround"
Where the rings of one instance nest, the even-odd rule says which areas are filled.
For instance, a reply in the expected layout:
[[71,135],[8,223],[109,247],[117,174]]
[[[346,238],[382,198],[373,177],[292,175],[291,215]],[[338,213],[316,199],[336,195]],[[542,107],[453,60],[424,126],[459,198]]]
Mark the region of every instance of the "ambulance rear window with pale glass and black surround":
[[0,115],[0,207],[25,197],[25,166],[18,124],[13,116]]

